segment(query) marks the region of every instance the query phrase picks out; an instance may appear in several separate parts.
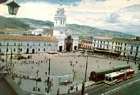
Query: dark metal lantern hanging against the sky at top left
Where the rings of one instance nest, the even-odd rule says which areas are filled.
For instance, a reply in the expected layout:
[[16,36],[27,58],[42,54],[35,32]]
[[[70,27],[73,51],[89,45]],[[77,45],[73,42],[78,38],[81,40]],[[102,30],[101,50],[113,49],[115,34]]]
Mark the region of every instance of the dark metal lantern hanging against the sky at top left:
[[10,15],[16,15],[20,7],[14,0],[8,3],[7,6],[8,6],[8,12]]

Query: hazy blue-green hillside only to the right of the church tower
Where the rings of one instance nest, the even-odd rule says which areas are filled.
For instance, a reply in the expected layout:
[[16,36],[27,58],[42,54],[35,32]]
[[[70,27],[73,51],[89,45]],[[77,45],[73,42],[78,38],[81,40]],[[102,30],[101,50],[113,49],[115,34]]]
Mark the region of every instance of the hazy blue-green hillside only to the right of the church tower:
[[85,25],[77,25],[77,24],[69,24],[67,27],[72,32],[77,32],[80,36],[88,35],[88,36],[102,36],[102,37],[119,37],[119,38],[133,38],[133,35],[117,32],[117,31],[110,31],[110,30],[102,30],[90,26]]

